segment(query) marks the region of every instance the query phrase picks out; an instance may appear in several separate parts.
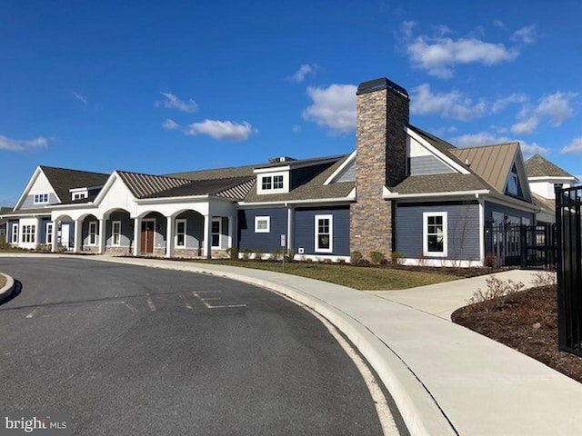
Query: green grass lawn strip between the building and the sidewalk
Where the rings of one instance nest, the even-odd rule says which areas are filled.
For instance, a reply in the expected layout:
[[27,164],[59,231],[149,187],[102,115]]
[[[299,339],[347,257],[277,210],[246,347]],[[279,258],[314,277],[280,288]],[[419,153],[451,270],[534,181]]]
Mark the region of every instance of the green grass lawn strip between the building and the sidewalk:
[[[244,268],[255,268],[257,270],[283,272],[281,263],[273,262],[231,260],[196,262],[219,263]],[[287,274],[300,275],[301,277],[342,284],[350,288],[367,291],[408,289],[426,284],[448,282],[459,278],[455,275],[437,272],[418,272],[384,267],[360,267],[329,263],[286,263],[285,272]]]

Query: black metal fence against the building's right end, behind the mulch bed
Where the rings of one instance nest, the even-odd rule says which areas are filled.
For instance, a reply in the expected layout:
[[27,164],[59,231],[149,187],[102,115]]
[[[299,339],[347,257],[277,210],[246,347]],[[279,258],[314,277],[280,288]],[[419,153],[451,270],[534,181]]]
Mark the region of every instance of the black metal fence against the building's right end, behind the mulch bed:
[[487,266],[556,267],[555,224],[489,224],[485,234]]

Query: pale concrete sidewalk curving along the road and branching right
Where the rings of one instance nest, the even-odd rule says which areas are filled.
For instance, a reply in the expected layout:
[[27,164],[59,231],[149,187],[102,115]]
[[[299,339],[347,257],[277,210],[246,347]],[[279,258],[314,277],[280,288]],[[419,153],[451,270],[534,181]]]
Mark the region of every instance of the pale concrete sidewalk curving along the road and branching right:
[[[333,322],[366,357],[413,435],[582,434],[582,384],[446,319],[478,287],[485,287],[484,278],[361,292],[209,263],[84,258],[216,274],[306,304]],[[528,284],[522,273],[497,275]]]

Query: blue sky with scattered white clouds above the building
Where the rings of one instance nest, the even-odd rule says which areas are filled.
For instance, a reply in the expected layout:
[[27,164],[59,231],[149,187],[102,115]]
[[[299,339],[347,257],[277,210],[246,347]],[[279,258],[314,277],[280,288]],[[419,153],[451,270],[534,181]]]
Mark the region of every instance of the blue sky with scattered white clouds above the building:
[[0,204],[36,165],[174,173],[350,153],[356,85],[582,175],[582,3],[0,2]]

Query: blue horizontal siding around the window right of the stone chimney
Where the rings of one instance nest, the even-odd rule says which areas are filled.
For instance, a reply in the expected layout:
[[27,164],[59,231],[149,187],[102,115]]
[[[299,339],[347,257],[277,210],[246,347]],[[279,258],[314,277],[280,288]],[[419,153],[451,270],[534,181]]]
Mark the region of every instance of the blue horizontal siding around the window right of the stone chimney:
[[447,213],[447,257],[437,259],[478,260],[478,203],[400,203],[396,206],[396,251],[416,259],[423,254],[423,213]]

